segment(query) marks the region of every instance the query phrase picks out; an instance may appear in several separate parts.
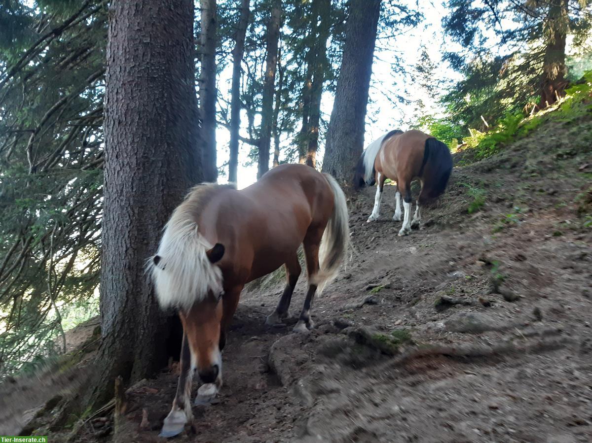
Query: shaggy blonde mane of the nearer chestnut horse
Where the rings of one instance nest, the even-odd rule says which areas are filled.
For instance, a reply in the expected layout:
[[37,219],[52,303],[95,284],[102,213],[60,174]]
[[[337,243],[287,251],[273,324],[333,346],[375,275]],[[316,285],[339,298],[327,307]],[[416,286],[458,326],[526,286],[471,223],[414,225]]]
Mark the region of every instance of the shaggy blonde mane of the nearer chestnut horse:
[[214,193],[224,187],[229,186],[195,186],[165,225],[158,252],[148,263],[162,308],[188,310],[210,291],[215,296],[222,293],[222,271],[207,257],[213,245],[200,234],[197,216]]

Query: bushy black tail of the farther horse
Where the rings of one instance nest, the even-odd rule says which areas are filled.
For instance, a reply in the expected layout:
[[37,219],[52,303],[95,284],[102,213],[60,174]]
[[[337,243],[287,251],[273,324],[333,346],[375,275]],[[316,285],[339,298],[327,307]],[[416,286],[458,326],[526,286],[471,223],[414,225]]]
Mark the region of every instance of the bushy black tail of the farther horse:
[[429,173],[429,177],[424,179],[426,196],[435,199],[445,191],[452,172],[450,148],[436,138],[428,138],[423,152],[422,173],[424,169]]

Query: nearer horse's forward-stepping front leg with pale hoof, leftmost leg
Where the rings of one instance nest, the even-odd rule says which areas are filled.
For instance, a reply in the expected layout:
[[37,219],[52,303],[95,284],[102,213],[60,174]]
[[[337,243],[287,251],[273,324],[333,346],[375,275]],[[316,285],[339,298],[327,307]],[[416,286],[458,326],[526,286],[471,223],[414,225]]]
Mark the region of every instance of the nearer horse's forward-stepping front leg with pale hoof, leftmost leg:
[[175,400],[173,400],[173,408],[165,418],[160,436],[172,437],[181,434],[185,424],[191,421],[191,381],[195,370],[192,360],[189,342],[184,332],[181,345],[181,375],[177,384]]

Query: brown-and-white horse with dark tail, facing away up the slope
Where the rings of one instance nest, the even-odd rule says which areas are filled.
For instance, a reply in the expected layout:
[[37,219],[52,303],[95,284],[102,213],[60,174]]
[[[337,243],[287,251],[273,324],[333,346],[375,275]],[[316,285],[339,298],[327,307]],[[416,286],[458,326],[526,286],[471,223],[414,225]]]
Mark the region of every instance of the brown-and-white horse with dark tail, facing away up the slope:
[[[419,228],[420,205],[435,199],[446,189],[452,172],[452,156],[444,143],[422,131],[391,131],[368,145],[356,167],[354,187],[377,184],[374,209],[368,223],[378,219],[384,180],[397,182],[397,208],[394,221],[401,221],[401,195],[405,215],[399,235],[407,235],[411,228]],[[411,181],[419,178],[422,190],[417,198],[411,221]]]

